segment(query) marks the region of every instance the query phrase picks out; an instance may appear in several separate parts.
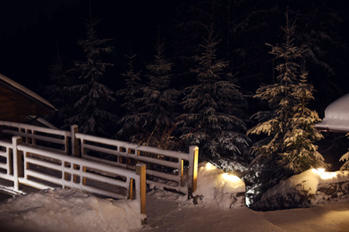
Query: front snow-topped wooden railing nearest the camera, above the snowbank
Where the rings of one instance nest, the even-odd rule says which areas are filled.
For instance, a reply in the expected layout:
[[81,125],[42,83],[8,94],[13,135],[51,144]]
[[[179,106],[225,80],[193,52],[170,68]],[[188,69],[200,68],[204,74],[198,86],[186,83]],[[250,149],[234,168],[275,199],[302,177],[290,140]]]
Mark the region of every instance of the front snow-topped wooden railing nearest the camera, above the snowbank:
[[21,185],[45,188],[74,188],[117,199],[140,199],[145,214],[146,166],[138,163],[136,171],[91,162],[43,150],[14,136],[12,143],[0,141],[0,178]]

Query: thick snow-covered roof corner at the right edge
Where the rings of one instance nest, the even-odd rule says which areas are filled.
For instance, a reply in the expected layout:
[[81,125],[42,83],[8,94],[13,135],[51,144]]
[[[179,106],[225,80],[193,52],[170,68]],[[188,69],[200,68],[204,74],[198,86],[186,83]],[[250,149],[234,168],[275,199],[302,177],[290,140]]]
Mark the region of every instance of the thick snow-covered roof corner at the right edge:
[[349,94],[329,104],[325,118],[315,125],[319,130],[349,132]]

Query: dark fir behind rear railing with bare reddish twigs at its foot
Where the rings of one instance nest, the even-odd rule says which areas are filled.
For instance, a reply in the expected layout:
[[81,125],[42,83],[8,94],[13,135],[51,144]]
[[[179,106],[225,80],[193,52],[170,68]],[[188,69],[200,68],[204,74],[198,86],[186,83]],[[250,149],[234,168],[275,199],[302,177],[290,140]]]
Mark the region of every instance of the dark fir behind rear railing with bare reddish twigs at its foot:
[[136,100],[142,105],[137,120],[138,141],[143,145],[174,149],[174,109],[180,92],[170,88],[174,63],[165,58],[165,43],[158,40],[155,49],[154,60],[147,65],[149,81],[141,88],[142,96]]

